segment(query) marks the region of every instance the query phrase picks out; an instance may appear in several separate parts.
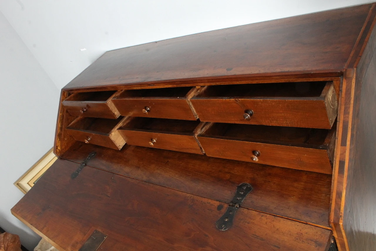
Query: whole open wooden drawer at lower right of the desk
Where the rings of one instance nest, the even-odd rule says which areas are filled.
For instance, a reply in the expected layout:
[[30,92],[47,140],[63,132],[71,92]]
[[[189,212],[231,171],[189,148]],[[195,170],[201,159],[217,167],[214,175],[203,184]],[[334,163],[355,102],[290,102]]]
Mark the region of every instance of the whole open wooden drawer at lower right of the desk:
[[335,128],[207,123],[197,138],[208,156],[332,173]]

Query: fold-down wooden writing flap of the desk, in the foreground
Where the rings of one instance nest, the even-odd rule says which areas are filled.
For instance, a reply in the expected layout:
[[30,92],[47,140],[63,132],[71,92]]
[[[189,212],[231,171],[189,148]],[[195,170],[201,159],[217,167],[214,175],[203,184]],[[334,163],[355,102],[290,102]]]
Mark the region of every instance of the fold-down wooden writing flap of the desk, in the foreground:
[[12,213],[62,251],[88,233],[109,236],[101,250],[326,251],[331,231],[240,208],[233,227],[215,228],[226,204],[59,159]]

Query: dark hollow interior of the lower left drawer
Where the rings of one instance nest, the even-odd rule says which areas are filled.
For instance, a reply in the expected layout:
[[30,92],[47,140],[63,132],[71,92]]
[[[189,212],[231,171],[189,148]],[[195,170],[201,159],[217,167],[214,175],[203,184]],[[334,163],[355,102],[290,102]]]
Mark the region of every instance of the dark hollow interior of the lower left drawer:
[[124,117],[117,119],[86,118],[82,117],[73,121],[67,128],[83,132],[109,135]]

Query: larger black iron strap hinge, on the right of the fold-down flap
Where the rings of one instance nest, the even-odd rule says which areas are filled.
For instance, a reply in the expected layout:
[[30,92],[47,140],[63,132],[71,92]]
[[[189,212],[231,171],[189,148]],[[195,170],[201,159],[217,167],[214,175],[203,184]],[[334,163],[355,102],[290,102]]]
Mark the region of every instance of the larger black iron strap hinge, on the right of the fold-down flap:
[[223,214],[222,217],[219,218],[219,220],[217,220],[217,222],[215,222],[215,226],[218,230],[226,231],[227,229],[232,227],[235,213],[240,208],[240,205],[243,202],[243,200],[252,190],[253,187],[248,183],[242,183],[238,185],[235,196],[229,203],[229,207],[227,207],[226,212]]

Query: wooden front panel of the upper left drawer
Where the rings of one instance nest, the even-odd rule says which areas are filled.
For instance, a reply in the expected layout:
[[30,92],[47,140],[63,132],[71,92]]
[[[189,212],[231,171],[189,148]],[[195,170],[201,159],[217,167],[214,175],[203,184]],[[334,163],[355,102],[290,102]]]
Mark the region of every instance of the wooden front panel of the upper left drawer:
[[112,103],[91,103],[90,101],[63,101],[72,116],[116,119],[120,113]]

